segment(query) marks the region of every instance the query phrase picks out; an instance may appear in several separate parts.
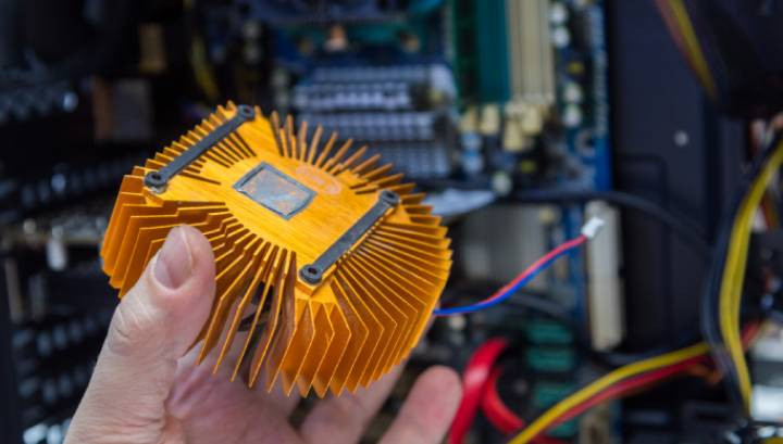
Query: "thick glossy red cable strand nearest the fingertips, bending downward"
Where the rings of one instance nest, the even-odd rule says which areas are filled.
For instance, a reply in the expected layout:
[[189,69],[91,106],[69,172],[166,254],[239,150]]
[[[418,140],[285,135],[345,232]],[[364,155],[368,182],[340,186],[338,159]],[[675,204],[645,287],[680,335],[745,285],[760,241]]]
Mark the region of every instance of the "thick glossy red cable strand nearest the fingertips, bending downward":
[[468,366],[462,373],[462,401],[460,401],[457,415],[455,415],[451,423],[449,444],[462,444],[462,440],[470,430],[478,404],[484,396],[489,372],[500,353],[507,347],[508,342],[505,339],[490,339],[476,348],[468,361]]

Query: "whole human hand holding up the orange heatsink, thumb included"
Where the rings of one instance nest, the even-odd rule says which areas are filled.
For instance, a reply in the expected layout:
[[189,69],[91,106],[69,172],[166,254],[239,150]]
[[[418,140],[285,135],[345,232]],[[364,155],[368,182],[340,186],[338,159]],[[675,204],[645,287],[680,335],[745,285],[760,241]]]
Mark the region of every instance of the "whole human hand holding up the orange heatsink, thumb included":
[[[356,394],[319,401],[295,430],[299,398],[276,384],[248,389],[188,352],[214,297],[214,259],[195,228],[171,230],[136,287],[117,306],[66,444],[356,443],[394,386],[401,366]],[[239,341],[241,342],[241,341]],[[222,367],[222,368],[225,368]],[[225,370],[227,371],[227,370]],[[381,440],[435,444],[460,399],[453,370],[433,367],[413,385]]]

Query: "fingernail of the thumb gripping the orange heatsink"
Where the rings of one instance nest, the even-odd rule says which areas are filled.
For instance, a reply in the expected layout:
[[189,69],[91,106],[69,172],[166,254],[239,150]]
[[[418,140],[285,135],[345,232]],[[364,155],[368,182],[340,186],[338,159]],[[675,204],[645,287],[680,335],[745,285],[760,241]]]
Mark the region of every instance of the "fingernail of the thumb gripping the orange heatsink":
[[171,290],[178,289],[190,278],[192,256],[183,227],[174,227],[169,231],[152,271],[158,283]]

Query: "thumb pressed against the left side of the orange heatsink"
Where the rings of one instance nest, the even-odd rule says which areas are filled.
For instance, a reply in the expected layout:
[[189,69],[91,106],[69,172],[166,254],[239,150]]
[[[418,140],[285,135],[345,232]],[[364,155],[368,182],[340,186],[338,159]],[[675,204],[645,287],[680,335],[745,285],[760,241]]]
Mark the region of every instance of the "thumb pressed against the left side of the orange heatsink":
[[173,228],[114,312],[66,442],[160,442],[176,361],[192,344],[213,297],[209,242],[192,227]]

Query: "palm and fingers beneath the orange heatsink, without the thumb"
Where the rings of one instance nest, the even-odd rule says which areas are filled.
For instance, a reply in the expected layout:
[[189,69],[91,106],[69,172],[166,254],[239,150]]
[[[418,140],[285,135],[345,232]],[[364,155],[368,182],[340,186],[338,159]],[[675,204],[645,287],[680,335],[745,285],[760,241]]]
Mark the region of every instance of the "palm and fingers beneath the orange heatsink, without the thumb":
[[[400,369],[375,382],[370,389],[356,394],[320,401],[295,430],[288,416],[296,407],[298,396],[286,396],[276,385],[271,393],[263,388],[248,389],[243,381],[231,382],[227,367],[212,375],[212,363],[192,365],[192,353],[184,357],[166,402],[167,433],[165,443],[351,443],[357,442],[366,423],[385,401],[397,380]],[[440,369],[445,372],[445,370]],[[448,379],[448,378],[447,378]],[[439,432],[427,439],[426,430],[433,421],[438,423],[438,378],[427,378],[403,407],[397,427],[393,426],[384,437],[386,443],[409,443],[407,430],[415,430],[422,443],[436,443]],[[452,381],[450,381],[452,382]],[[448,381],[446,382],[448,383]],[[453,402],[451,402],[452,404]],[[446,404],[449,405],[449,404]],[[450,415],[450,413],[445,413]],[[443,421],[439,421],[443,422]],[[421,435],[423,433],[423,435]],[[415,441],[413,441],[415,442]]]

